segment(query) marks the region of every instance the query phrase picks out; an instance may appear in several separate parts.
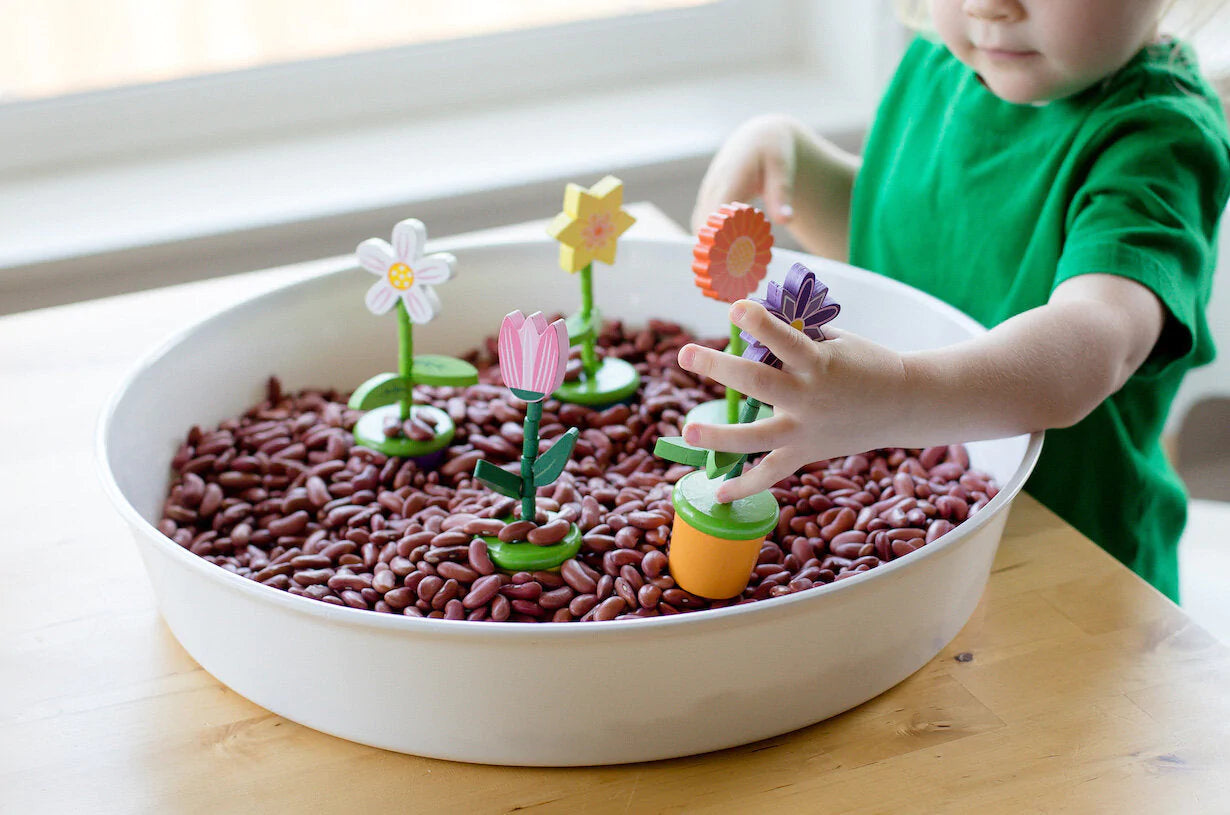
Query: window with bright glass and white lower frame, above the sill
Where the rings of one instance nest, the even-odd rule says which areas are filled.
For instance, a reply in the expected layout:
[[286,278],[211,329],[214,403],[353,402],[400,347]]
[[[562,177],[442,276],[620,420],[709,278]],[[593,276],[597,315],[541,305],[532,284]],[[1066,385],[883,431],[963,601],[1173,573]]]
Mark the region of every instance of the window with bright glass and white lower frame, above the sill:
[[[12,2],[25,16],[6,15],[6,22],[21,22],[5,26],[0,34],[0,85],[10,89],[10,97],[28,98],[0,104],[0,172],[213,146],[253,134],[355,120],[437,116],[531,93],[578,93],[732,65],[782,64],[798,58],[797,21],[812,5],[812,0]],[[330,7],[335,11],[321,11]],[[337,23],[351,18],[346,11],[351,7],[369,16],[355,12],[355,25]],[[143,11],[124,23],[119,9]],[[264,9],[263,23],[256,22],[256,9]],[[305,9],[311,10],[310,20],[303,18]],[[75,15],[65,17],[66,10]],[[82,43],[55,39],[57,15],[74,22],[69,31],[84,37]],[[260,44],[256,30],[277,30],[279,15],[293,36],[269,36]],[[247,22],[240,26],[239,20]],[[322,34],[330,30],[346,32],[331,39]],[[178,44],[175,37],[181,38]],[[59,50],[87,50],[97,39],[118,52],[124,50],[124,38],[149,45],[145,57],[127,64],[84,59],[75,71],[52,68]],[[100,90],[105,85],[109,87]]]

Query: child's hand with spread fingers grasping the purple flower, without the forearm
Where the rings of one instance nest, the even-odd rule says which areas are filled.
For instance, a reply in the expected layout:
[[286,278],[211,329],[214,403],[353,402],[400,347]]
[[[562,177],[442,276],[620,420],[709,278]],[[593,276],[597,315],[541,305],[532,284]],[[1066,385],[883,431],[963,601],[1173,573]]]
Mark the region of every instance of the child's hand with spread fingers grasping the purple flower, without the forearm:
[[813,461],[892,444],[889,436],[910,411],[900,354],[838,328],[824,328],[828,339],[814,342],[749,300],[731,306],[731,321],[781,359],[782,369],[695,344],[679,349],[685,370],[774,408],[771,418],[749,424],[684,428],[684,439],[700,447],[770,451],[756,467],[722,484],[718,500],[768,489]]

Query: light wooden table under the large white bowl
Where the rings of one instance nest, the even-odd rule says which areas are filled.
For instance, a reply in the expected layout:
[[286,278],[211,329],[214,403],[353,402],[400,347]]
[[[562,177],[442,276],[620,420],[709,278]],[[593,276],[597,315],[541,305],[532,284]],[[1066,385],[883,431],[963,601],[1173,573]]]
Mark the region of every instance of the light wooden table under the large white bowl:
[[[633,211],[641,234],[678,229]],[[936,659],[844,715],[744,747],[470,766],[351,744],[239,697],[159,617],[96,478],[95,423],[166,332],[312,267],[0,318],[0,813],[1230,811],[1230,649],[1027,495],[982,604]]]

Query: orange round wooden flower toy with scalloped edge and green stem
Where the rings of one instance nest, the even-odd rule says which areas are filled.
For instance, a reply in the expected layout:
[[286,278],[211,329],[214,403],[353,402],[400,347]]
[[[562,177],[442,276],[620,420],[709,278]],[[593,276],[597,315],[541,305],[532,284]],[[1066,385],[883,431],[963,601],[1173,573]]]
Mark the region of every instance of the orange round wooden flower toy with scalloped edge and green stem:
[[[696,234],[692,273],[706,297],[734,302],[750,296],[772,259],[772,229],[765,214],[748,204],[724,204],[708,216]],[[739,329],[731,323],[728,354],[743,353]],[[686,422],[734,424],[739,419],[740,396],[726,388],[726,400],[704,402],[692,408]],[[768,408],[765,412],[768,413]]]

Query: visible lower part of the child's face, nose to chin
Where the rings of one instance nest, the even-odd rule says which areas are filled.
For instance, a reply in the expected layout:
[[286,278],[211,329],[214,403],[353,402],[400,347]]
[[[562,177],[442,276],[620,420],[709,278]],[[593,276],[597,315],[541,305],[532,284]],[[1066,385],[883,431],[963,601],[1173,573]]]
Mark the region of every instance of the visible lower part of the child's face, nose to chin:
[[929,0],[943,43],[1016,103],[1049,102],[1122,68],[1156,33],[1165,0]]

